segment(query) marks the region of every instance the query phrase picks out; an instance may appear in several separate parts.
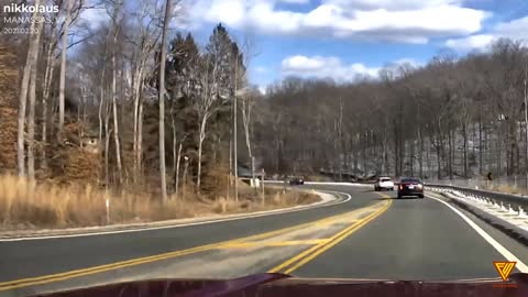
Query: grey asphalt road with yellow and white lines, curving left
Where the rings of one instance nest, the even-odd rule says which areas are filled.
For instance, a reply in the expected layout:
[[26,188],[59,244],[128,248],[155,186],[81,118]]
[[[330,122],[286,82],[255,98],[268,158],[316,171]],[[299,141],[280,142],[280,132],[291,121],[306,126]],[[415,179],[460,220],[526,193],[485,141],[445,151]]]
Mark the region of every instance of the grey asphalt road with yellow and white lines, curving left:
[[[449,280],[498,277],[526,248],[449,200],[395,199],[370,187],[305,185],[348,201],[170,229],[0,241],[0,296],[142,278],[301,277]],[[350,195],[350,196],[349,196]],[[450,207],[451,206],[451,207]],[[453,209],[454,208],[454,209]]]

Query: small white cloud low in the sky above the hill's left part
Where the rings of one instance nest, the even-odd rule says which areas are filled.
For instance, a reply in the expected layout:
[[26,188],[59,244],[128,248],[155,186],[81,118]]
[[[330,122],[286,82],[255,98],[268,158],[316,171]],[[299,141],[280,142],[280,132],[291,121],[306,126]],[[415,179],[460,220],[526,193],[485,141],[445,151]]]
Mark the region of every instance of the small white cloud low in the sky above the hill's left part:
[[364,76],[377,77],[378,70],[380,68],[367,67],[361,63],[343,64],[338,57],[296,55],[286,57],[282,62],[283,75],[330,77],[338,81],[350,81]]

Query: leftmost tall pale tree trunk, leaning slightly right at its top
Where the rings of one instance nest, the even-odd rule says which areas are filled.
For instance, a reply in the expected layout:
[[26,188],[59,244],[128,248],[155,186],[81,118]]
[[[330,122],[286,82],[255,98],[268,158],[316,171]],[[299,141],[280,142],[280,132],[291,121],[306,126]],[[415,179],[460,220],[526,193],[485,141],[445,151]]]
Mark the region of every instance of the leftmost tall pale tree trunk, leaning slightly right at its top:
[[[41,4],[41,0],[35,0],[35,7]],[[40,13],[35,11],[33,18],[38,18]],[[30,31],[35,31],[35,26],[41,24],[31,23]],[[25,66],[22,75],[22,84],[20,86],[19,94],[19,114],[18,114],[18,135],[16,135],[16,161],[18,161],[18,173],[20,177],[25,176],[25,153],[24,153],[24,130],[25,130],[25,108],[28,102],[28,88],[30,84],[30,77],[32,76],[32,68],[36,68],[37,64],[37,54],[40,47],[38,38],[30,37],[28,57],[25,61]],[[35,79],[36,80],[36,79]]]

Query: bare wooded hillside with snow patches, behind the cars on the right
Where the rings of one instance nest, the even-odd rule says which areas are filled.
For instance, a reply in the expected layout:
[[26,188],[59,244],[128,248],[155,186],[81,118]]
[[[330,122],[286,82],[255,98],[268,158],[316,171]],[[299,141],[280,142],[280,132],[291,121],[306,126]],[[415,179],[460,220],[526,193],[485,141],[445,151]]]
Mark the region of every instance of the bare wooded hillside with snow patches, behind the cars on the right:
[[525,174],[527,65],[520,42],[501,40],[490,52],[389,65],[380,79],[292,77],[268,88],[256,144],[267,172]]

